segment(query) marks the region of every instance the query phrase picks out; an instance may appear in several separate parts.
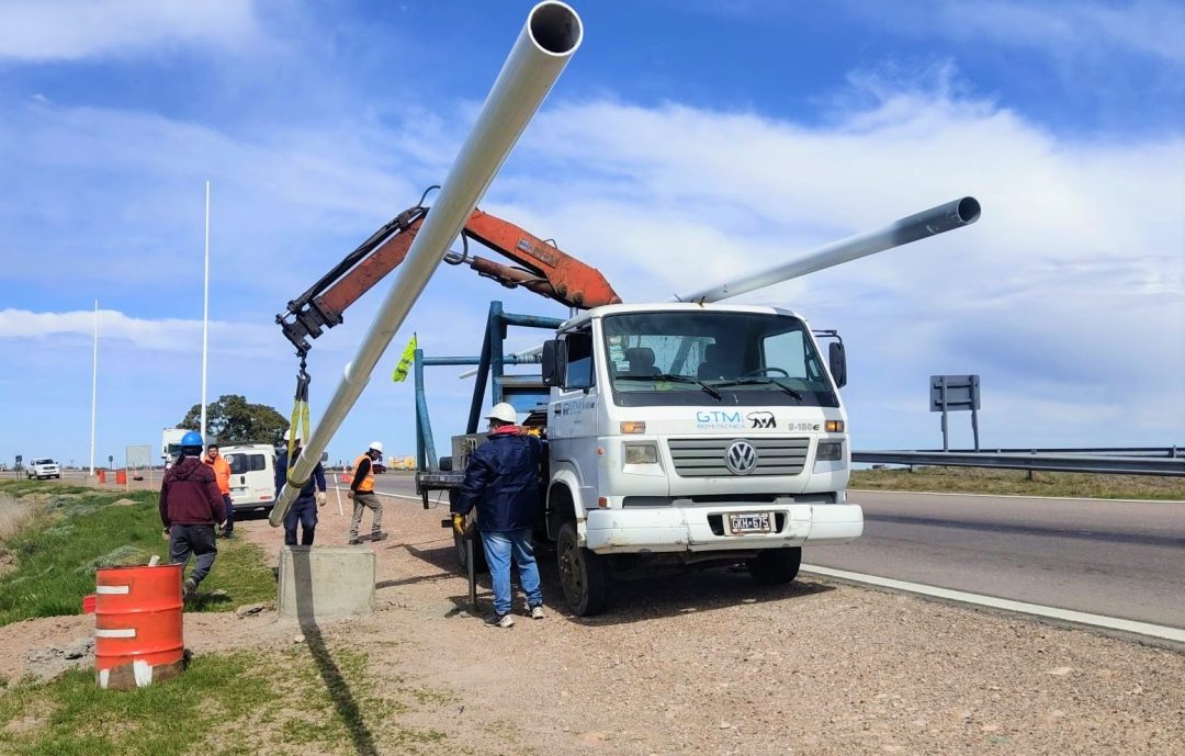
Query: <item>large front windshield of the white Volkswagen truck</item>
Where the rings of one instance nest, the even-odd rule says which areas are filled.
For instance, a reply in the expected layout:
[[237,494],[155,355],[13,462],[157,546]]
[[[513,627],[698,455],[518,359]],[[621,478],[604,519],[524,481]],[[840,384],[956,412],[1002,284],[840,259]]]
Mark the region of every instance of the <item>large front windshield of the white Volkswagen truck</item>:
[[619,406],[839,406],[798,318],[711,310],[628,313],[606,316],[603,331]]

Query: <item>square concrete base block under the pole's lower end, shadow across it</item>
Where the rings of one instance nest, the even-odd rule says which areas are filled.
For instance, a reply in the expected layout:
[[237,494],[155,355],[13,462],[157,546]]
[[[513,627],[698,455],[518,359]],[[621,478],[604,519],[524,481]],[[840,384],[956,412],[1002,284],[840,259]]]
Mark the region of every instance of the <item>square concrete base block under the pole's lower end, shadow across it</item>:
[[374,552],[338,546],[280,551],[280,616],[315,620],[370,614],[374,608]]

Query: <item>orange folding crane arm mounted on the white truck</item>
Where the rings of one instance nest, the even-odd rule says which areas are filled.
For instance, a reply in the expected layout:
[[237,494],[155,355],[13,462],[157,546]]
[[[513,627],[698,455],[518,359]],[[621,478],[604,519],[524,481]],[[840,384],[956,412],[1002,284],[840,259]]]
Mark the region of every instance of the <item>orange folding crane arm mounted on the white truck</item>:
[[[325,328],[339,325],[351,305],[403,262],[427,214],[428,209],[422,204],[399,213],[305,294],[288,302],[287,312],[276,315],[276,322],[296,347],[297,354],[308,353],[308,339],[315,339]],[[569,307],[590,308],[621,301],[600,270],[508,220],[474,210],[461,230],[461,237],[466,251],[449,254],[444,262],[467,264],[478,275],[505,287],[521,286]],[[468,239],[488,246],[515,265],[469,256]]]

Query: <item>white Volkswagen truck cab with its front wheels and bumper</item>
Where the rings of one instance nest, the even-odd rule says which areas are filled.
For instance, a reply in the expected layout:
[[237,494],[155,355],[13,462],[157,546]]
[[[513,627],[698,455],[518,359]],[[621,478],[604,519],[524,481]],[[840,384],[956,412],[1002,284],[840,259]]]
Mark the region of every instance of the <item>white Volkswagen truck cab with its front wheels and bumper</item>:
[[806,321],[771,307],[613,305],[559,327],[545,521],[574,609],[603,604],[616,555],[779,583],[803,544],[861,534],[834,346],[830,372]]

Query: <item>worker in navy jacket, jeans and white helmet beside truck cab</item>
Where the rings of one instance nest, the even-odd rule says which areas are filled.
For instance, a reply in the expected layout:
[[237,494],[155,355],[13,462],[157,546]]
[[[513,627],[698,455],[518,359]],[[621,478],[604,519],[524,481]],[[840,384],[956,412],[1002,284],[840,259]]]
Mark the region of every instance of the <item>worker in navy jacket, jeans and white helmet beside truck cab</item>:
[[514,408],[502,402],[486,416],[489,440],[478,447],[465,469],[461,495],[453,510],[453,528],[465,532],[465,515],[478,508],[478,531],[494,585],[495,627],[514,627],[511,616],[511,557],[532,619],[543,619],[539,568],[531,533],[539,512],[539,459],[543,443],[515,421]]

